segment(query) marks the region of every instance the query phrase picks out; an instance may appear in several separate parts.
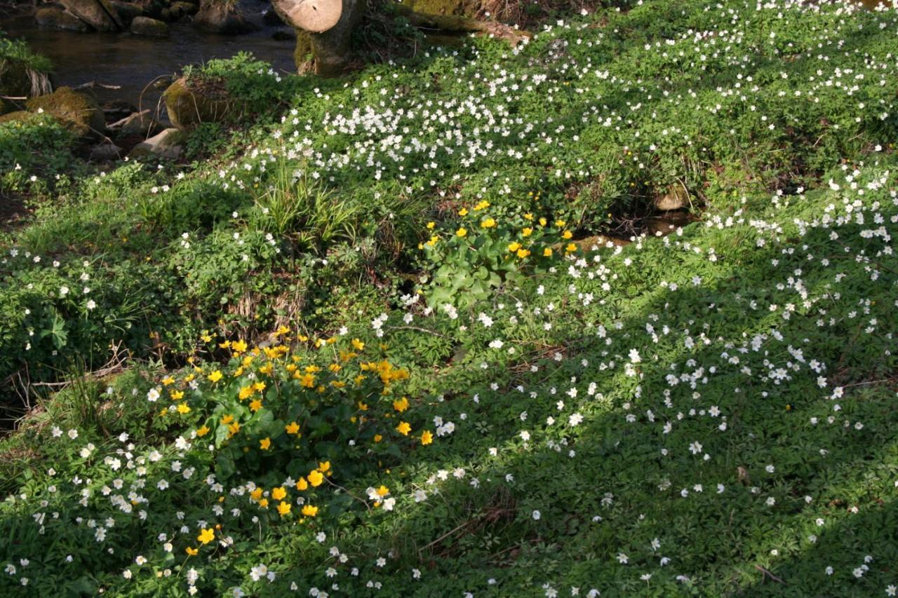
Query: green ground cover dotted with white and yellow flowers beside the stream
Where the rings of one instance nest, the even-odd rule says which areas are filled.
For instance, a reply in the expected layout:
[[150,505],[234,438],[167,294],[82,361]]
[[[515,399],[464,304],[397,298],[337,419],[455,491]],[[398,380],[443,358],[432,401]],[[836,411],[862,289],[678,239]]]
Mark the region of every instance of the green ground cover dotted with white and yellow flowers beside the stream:
[[635,3],[23,164],[0,368],[69,383],[0,440],[0,588],[898,593],[896,35]]

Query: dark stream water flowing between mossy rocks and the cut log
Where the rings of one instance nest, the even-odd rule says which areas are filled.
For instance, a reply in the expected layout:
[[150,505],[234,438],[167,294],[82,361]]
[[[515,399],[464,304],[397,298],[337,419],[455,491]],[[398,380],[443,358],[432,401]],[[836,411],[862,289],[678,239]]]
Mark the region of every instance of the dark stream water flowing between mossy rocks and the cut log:
[[[268,3],[242,4],[252,22],[261,23]],[[182,66],[211,58],[252,52],[277,70],[293,72],[295,41],[277,41],[277,28],[263,27],[246,35],[215,35],[198,31],[189,22],[169,23],[171,35],[154,39],[124,33],[77,33],[39,27],[31,14],[0,16],[0,29],[13,38],[26,40],[32,50],[53,61],[55,85],[75,87],[89,82],[118,85],[117,90],[92,88],[98,101],[125,100],[138,108],[155,110],[162,94],[150,83],[160,75],[172,75]],[[288,31],[286,27],[281,28]],[[164,114],[164,110],[162,110]],[[161,115],[162,116],[162,115]]]

